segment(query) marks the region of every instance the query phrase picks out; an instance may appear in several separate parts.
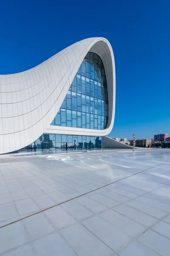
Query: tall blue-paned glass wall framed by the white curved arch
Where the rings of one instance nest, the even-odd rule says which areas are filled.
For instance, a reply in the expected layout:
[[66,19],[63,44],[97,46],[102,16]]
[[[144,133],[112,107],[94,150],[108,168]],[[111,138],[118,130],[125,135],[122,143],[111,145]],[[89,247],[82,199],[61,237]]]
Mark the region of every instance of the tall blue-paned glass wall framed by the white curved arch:
[[108,123],[108,91],[101,58],[88,52],[51,125],[102,130]]

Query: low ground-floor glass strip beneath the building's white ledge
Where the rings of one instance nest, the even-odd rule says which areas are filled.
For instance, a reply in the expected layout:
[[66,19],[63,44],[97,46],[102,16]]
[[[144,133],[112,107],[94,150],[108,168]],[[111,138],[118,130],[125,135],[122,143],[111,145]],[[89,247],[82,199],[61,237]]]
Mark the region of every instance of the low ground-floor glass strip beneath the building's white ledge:
[[102,149],[102,137],[61,134],[42,134],[36,141],[19,152],[82,151]]

